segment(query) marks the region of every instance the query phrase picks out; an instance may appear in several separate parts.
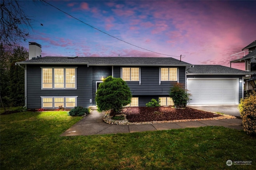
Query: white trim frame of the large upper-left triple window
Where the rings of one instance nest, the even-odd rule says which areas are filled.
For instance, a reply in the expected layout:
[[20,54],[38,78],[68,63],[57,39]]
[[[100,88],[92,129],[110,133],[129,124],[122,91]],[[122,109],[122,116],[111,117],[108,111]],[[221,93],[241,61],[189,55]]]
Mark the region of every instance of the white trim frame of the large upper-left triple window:
[[[52,68],[52,88],[43,88],[43,68]],[[54,88],[54,68],[64,68],[64,88]],[[76,74],[75,88],[65,88],[66,68],[74,68]],[[77,67],[41,67],[41,90],[76,90],[77,89]]]

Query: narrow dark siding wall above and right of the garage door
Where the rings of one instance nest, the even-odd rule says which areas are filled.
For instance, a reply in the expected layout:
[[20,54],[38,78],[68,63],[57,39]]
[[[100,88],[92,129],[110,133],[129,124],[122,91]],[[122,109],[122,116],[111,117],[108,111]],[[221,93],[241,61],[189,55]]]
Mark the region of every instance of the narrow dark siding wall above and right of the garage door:
[[[243,97],[243,82],[240,81],[242,80],[242,76],[228,76],[228,75],[223,75],[223,76],[219,76],[219,75],[196,75],[196,76],[193,76],[193,75],[187,75],[187,78],[239,78],[239,102],[240,102],[240,99]],[[189,90],[189,89],[188,89]]]

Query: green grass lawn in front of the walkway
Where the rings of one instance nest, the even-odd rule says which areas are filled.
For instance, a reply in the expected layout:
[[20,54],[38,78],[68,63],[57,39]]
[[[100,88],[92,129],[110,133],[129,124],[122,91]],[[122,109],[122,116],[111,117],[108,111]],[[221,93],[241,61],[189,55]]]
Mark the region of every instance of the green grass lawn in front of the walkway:
[[[1,170],[256,169],[256,138],[243,131],[199,127],[60,137],[80,119],[65,111],[0,115]],[[228,159],[252,165],[229,167]]]

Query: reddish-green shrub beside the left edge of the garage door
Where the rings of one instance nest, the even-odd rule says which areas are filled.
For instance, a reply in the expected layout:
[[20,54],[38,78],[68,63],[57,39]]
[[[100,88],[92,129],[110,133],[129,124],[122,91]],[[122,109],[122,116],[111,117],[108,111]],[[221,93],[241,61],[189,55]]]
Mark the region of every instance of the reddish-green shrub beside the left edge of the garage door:
[[191,94],[187,92],[182,83],[176,83],[170,88],[169,96],[174,102],[175,108],[186,107]]

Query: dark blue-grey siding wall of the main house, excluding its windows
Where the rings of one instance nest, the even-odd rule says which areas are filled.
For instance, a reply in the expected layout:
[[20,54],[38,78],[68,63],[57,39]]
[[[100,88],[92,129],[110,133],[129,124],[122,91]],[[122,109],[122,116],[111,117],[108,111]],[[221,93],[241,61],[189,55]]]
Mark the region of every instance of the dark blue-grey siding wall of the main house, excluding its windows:
[[[101,82],[102,76],[106,78],[112,75],[112,66],[87,66],[72,65],[77,67],[76,90],[52,90],[41,89],[40,67],[71,67],[71,65],[27,65],[27,107],[41,108],[41,96],[78,96],[77,106],[95,106],[96,82]],[[139,97],[139,106],[146,106],[152,98],[168,96],[170,87],[175,82],[161,82],[159,85],[159,67],[142,66],[141,84],[139,82],[127,82],[132,95]],[[113,76],[120,78],[121,67],[113,67]],[[185,83],[185,67],[178,68],[178,82]],[[90,100],[92,102],[90,102]]]

